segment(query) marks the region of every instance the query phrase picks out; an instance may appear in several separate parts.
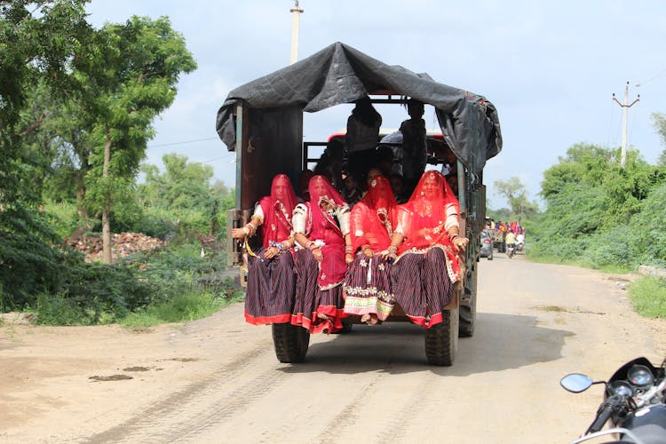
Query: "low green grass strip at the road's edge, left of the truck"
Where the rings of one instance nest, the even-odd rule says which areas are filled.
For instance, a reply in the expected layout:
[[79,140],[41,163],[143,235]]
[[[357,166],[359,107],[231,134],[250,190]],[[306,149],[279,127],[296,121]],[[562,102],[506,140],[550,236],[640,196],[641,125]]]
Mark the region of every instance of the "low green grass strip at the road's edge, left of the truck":
[[160,305],[150,305],[145,310],[130,313],[118,323],[130,329],[142,329],[172,322],[195,321],[210,316],[220,308],[242,300],[242,293],[233,297],[219,297],[210,292],[194,289]]

